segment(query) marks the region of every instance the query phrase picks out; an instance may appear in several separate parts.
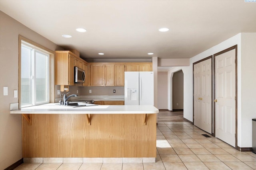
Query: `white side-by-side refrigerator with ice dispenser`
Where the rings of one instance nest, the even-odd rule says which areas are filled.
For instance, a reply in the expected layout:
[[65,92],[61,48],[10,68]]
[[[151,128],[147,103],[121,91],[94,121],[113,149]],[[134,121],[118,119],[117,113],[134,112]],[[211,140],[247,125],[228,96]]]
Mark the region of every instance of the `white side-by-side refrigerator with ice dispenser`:
[[124,72],[124,105],[154,106],[154,73]]

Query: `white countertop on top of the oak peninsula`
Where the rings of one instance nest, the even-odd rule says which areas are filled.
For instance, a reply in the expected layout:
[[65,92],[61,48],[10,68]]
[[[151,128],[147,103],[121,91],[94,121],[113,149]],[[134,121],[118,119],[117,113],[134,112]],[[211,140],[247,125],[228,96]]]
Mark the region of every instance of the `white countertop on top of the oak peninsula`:
[[11,114],[154,114],[158,109],[149,105],[92,105],[86,107],[60,106],[50,103],[10,111]]

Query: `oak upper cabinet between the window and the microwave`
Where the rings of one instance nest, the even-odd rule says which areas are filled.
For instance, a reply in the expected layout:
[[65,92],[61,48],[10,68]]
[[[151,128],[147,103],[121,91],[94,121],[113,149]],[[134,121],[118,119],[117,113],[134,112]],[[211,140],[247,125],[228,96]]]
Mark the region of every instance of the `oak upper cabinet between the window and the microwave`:
[[55,84],[74,85],[74,58],[70,51],[55,51]]

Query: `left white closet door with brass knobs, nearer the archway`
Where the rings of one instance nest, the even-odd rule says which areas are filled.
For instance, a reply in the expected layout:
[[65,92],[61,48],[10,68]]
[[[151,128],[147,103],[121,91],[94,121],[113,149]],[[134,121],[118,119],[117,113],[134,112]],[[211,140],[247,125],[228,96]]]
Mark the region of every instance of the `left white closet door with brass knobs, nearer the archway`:
[[194,125],[212,134],[212,59],[194,64]]

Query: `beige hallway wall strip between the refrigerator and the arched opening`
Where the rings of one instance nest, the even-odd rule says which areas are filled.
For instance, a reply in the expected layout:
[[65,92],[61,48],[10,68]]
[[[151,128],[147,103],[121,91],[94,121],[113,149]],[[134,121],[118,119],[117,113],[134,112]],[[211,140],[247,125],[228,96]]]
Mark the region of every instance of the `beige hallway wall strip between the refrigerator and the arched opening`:
[[158,109],[168,109],[168,72],[158,72]]

